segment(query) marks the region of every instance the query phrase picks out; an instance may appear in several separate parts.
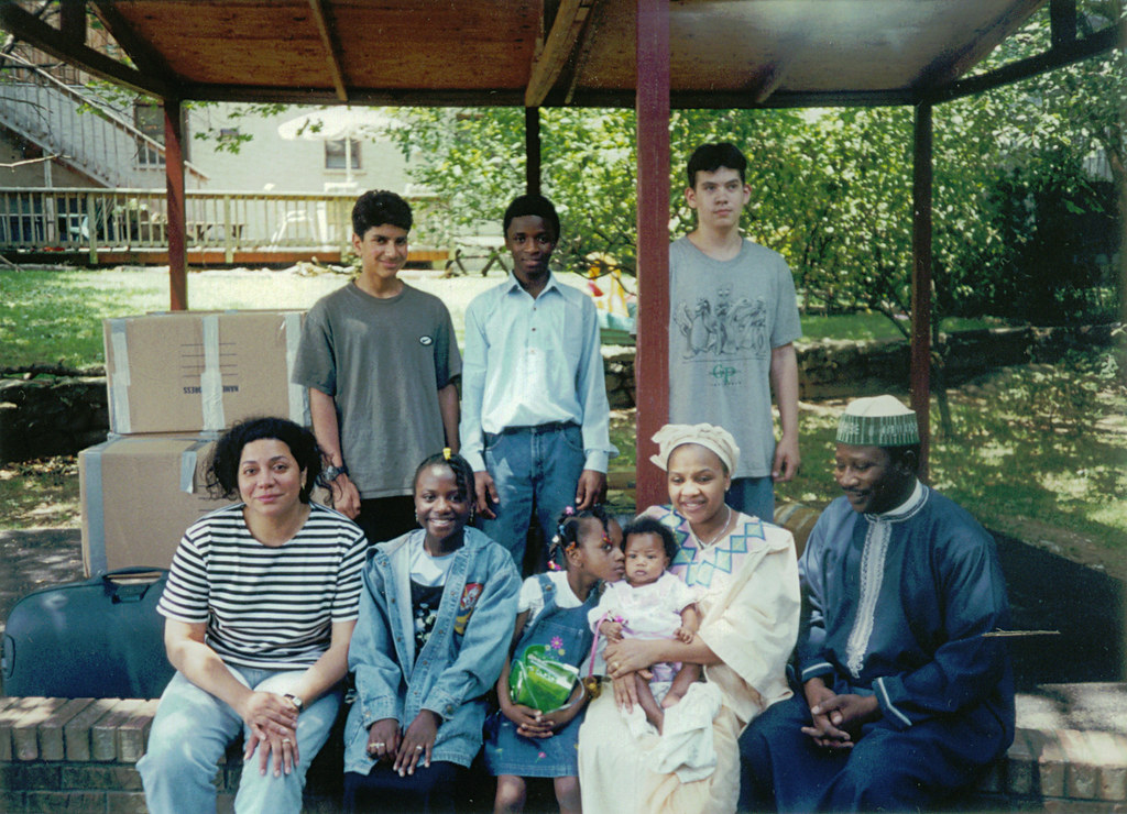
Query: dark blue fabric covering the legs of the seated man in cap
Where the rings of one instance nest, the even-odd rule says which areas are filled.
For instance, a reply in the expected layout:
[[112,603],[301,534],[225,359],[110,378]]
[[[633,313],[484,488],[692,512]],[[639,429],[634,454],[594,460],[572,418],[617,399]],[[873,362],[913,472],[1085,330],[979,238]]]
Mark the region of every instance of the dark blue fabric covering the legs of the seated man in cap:
[[780,701],[739,737],[739,811],[913,812],[973,784],[1009,745],[984,707],[907,730],[867,724],[850,750],[818,746],[802,695]]

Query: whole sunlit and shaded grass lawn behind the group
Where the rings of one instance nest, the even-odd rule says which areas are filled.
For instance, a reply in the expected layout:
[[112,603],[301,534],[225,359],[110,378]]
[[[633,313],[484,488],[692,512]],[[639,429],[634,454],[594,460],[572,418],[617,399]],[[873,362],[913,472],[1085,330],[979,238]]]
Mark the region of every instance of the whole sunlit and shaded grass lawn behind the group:
[[[447,304],[461,336],[465,305],[498,276],[442,279],[407,271],[411,285]],[[308,308],[338,288],[336,274],[206,271],[188,277],[193,308]],[[578,284],[578,279],[570,280]],[[168,272],[158,269],[0,269],[0,366],[103,361],[101,320],[168,308]],[[956,330],[986,322],[944,323]],[[805,339],[896,338],[880,314],[811,316]],[[1104,355],[1104,360],[1110,354]],[[1120,359],[1120,361],[1122,361]],[[950,393],[953,435],[938,431],[933,404],[931,482],[986,526],[1053,547],[1127,578],[1127,394],[1120,373],[1086,375],[1079,388],[1075,360],[1055,368],[1011,368]],[[1085,363],[1086,364],[1086,363]],[[1091,374],[1091,368],[1088,374]],[[1090,385],[1090,386],[1089,386]],[[1092,392],[1098,392],[1095,397]],[[1085,396],[1084,394],[1088,393]],[[905,397],[905,394],[899,394]],[[837,494],[833,436],[844,402],[801,404],[802,471],[780,484],[780,501],[824,504]],[[615,413],[612,466],[633,468],[632,411]],[[0,528],[78,526],[73,458],[0,468]]]

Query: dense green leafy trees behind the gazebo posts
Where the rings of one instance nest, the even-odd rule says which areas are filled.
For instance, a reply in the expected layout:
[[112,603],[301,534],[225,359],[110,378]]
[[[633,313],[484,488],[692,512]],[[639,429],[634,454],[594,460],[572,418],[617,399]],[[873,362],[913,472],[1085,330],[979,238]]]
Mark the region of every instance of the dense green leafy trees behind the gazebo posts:
[[[1081,2],[1081,35],[1110,25],[1117,9]],[[1047,20],[1046,7],[984,69],[1046,50]],[[938,316],[1062,322],[1116,310],[1125,64],[1116,52],[935,108]],[[438,194],[445,229],[499,231],[502,209],[524,188],[523,110],[396,115],[408,123],[394,136],[409,172]],[[880,313],[906,336],[912,119],[908,108],[674,110],[672,231],[694,224],[682,195],[689,154],[731,141],[751,162],[744,226],[787,258],[807,304]],[[544,109],[541,143],[544,191],[567,230],[561,261],[607,252],[633,271],[633,111]]]

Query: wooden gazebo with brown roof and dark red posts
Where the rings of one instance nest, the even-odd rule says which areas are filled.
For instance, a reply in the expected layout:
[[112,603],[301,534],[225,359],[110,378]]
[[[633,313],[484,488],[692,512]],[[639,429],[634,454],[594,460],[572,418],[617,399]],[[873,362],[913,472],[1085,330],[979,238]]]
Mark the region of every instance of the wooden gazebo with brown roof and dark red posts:
[[[1044,5],[1041,53],[970,75]],[[121,59],[86,45],[88,7]],[[1121,20],[1079,36],[1077,0],[60,0],[56,24],[45,8],[0,0],[0,27],[165,102],[174,310],[187,307],[184,100],[523,105],[530,188],[540,107],[636,107],[639,462],[668,415],[671,107],[916,106],[912,403],[926,460],[932,105],[1124,47]],[[642,504],[662,497],[651,468]]]

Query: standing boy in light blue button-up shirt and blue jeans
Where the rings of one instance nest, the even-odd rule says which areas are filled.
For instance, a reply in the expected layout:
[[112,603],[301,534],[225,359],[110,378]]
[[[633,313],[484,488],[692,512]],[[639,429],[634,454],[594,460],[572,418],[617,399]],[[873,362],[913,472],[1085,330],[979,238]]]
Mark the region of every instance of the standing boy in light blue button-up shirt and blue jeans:
[[543,539],[567,506],[589,508],[618,450],[595,304],[548,270],[560,220],[522,195],[505,211],[513,272],[465,310],[462,455],[474,471],[481,530],[524,562],[535,511]]

